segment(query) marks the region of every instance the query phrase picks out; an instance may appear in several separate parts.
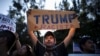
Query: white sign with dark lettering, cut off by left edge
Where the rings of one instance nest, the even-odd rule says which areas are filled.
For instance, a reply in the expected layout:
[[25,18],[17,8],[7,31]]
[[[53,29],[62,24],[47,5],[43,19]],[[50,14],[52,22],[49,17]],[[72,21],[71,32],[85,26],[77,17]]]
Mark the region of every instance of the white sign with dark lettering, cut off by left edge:
[[15,33],[16,32],[15,22],[9,17],[0,14],[0,30],[9,30]]

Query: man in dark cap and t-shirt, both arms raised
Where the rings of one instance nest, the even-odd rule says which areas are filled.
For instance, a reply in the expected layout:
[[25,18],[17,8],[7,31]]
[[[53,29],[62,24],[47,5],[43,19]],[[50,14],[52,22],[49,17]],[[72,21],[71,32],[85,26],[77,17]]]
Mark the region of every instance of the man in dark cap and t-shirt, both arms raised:
[[56,44],[56,38],[54,34],[48,31],[44,35],[43,44],[37,39],[33,31],[29,31],[29,35],[34,44],[34,52],[36,56],[66,56],[66,47],[71,41],[75,33],[75,28],[71,28],[65,39],[58,45]]

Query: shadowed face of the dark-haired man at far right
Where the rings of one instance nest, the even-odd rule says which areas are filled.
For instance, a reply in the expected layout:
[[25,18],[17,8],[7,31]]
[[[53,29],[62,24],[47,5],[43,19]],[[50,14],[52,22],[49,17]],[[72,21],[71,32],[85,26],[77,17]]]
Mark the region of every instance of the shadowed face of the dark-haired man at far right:
[[89,53],[95,52],[95,45],[92,40],[87,40],[82,47],[83,50],[88,51]]

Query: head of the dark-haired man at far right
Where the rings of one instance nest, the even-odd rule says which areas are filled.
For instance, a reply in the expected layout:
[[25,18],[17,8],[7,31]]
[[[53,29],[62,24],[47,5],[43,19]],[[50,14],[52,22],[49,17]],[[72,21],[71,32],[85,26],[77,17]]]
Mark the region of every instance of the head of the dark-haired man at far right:
[[89,37],[84,37],[79,42],[82,53],[95,53],[95,44]]

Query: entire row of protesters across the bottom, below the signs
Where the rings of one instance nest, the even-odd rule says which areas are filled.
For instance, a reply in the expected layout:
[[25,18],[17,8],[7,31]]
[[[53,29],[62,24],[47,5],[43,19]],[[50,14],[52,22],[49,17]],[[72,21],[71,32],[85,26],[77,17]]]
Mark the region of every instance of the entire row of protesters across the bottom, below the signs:
[[[0,31],[0,56],[33,56],[33,51],[36,56],[67,56],[67,46],[74,36],[75,28],[71,28],[65,39],[58,45],[56,45],[55,35],[50,31],[44,35],[43,43],[37,39],[33,31],[28,33],[34,50],[29,44],[21,45],[18,34],[8,30]],[[14,46],[16,50],[11,51]],[[81,53],[95,53],[95,45],[90,38],[82,38],[79,47]]]

